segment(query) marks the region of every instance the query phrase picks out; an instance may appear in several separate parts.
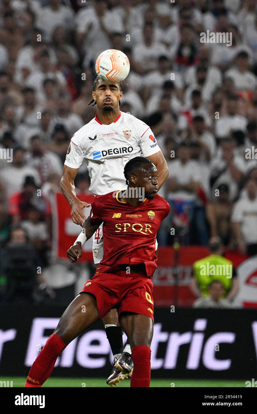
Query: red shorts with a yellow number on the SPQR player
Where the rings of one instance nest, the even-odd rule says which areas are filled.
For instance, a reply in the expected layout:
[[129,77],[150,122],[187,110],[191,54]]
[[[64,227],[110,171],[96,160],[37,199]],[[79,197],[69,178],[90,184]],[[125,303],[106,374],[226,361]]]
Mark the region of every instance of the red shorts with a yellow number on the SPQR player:
[[146,315],[153,320],[153,282],[141,273],[95,274],[85,283],[82,291],[92,293],[97,300],[100,319],[116,308],[121,312],[130,311]]

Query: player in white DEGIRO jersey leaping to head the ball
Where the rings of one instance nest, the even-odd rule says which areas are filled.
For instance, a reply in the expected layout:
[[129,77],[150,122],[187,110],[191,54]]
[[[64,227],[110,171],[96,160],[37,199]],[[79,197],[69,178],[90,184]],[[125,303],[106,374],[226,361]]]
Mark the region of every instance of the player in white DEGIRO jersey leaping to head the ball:
[[[91,178],[89,189],[94,195],[126,188],[121,172],[131,157],[144,156],[156,165],[159,189],[169,175],[167,163],[151,128],[130,113],[120,111],[121,89],[120,83],[112,84],[95,78],[90,103],[97,104],[97,114],[75,132],[68,147],[60,187],[71,206],[73,222],[80,226],[86,219],[83,209],[90,206],[76,197],[74,186],[74,179],[84,159]],[[93,236],[93,255],[97,267],[103,258],[102,226]],[[116,309],[111,310],[103,322],[114,358],[112,373],[106,381],[112,386],[131,375],[131,350],[127,344],[123,351],[123,332]]]

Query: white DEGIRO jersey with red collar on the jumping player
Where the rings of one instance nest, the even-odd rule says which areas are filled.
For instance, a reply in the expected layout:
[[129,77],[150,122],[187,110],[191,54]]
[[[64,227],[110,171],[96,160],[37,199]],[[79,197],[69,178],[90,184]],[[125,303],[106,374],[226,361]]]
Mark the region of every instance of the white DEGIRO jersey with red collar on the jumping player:
[[136,156],[151,156],[160,151],[150,127],[125,112],[110,125],[102,124],[97,115],[75,132],[66,155],[65,165],[79,168],[86,159],[94,195],[126,187],[124,166]]

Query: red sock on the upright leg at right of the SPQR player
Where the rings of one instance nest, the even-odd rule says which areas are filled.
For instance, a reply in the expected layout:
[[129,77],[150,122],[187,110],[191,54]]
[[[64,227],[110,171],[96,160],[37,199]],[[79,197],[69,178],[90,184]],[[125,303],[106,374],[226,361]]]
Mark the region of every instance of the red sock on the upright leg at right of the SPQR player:
[[146,345],[132,348],[134,369],[130,387],[150,387],[151,349]]

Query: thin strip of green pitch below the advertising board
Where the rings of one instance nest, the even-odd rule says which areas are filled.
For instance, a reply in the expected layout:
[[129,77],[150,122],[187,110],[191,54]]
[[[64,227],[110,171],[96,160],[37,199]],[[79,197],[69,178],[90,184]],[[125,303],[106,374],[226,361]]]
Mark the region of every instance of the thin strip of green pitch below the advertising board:
[[[1,381],[13,381],[13,387],[24,387],[26,378],[24,377],[1,377]],[[174,385],[173,385],[174,384]],[[130,380],[125,379],[117,384],[118,387],[129,387]],[[106,384],[106,378],[49,378],[43,387],[86,387],[86,388],[101,388],[109,387]],[[245,381],[232,380],[167,380],[156,379],[151,380],[151,387],[170,388],[170,387],[243,387],[245,388]],[[115,387],[113,387],[115,388]]]

